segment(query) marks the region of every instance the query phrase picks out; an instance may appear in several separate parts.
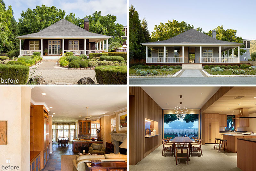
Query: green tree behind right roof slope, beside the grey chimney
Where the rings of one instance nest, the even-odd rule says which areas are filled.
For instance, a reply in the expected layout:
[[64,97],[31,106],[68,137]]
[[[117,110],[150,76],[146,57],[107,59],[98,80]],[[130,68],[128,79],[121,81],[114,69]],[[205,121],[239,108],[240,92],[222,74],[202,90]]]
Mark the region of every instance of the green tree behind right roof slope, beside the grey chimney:
[[[234,30],[234,29],[224,30],[223,26],[218,26],[215,30],[216,30],[216,39],[217,40],[232,41],[232,42],[236,42],[236,43],[244,43],[242,37],[236,36],[236,30]],[[210,30],[208,33],[205,33],[205,34],[207,34],[208,36],[211,36],[212,30]],[[244,45],[241,46],[241,48],[244,48]],[[240,48],[240,55],[243,55],[245,50],[241,49],[241,48]],[[231,53],[232,53],[232,51],[229,50],[229,54],[231,54]],[[237,56],[237,54],[238,54],[237,48],[234,49],[234,54]]]

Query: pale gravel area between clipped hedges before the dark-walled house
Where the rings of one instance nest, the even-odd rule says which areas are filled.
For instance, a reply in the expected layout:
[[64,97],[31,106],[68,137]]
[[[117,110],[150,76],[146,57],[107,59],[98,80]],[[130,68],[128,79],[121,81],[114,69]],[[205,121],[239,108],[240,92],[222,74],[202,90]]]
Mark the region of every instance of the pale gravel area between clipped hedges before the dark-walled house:
[[[30,69],[30,72],[32,69]],[[41,75],[49,83],[65,82],[77,84],[77,81],[84,77],[90,77],[97,84],[94,70],[61,70],[61,69],[37,69],[35,75]],[[30,75],[30,73],[29,73]]]

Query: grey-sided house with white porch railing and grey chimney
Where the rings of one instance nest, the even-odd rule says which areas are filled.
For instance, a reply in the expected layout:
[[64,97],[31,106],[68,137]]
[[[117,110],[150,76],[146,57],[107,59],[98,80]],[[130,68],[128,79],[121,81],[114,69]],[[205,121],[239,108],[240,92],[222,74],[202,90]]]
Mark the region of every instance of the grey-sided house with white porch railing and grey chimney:
[[[234,56],[234,48],[243,43],[220,41],[216,39],[216,31],[212,31],[212,37],[204,33],[190,29],[184,33],[164,41],[142,43],[146,46],[146,63],[240,63],[240,56]],[[148,57],[148,47],[152,50]],[[224,56],[224,52],[232,49],[232,53]],[[165,53],[164,53],[165,51]]]

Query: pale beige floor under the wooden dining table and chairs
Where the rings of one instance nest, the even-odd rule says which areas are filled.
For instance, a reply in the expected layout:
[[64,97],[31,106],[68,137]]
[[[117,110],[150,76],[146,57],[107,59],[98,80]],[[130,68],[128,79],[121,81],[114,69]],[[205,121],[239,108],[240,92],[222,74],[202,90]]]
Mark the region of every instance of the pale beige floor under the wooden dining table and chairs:
[[[170,152],[162,156],[160,145],[135,166],[129,166],[129,171],[242,171],[236,167],[236,153],[221,153],[213,149],[214,145],[202,145],[202,153],[194,152],[194,156],[187,159],[180,159],[180,164],[176,165],[176,160]],[[179,163],[179,160],[178,160]]]

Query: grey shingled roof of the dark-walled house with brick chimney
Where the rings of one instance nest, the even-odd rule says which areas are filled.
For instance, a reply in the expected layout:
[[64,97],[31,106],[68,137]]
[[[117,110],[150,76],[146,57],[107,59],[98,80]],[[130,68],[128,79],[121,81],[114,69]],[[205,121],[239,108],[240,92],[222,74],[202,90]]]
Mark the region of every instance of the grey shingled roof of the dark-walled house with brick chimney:
[[37,32],[26,34],[22,36],[17,36],[16,38],[44,38],[44,37],[92,37],[92,38],[111,38],[111,36],[91,33],[83,28],[76,26],[75,24],[69,22],[66,19],[61,19],[60,21],[52,24],[49,27]]

